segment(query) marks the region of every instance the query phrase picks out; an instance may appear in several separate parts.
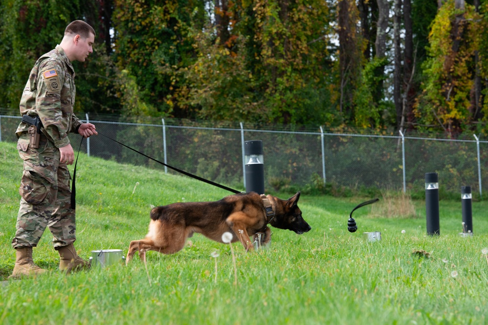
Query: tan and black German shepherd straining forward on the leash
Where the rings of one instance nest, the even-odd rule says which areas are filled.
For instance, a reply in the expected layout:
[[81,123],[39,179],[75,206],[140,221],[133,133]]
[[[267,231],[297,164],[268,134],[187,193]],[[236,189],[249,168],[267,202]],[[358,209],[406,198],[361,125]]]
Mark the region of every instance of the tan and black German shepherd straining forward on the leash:
[[253,250],[250,236],[264,233],[262,244],[271,240],[271,230],[267,225],[288,229],[302,234],[310,226],[302,218],[297,206],[300,192],[288,200],[256,192],[229,195],[214,202],[173,203],[151,210],[149,232],[141,240],[130,242],[125,263],[134,253],[146,263],[146,251],[155,250],[163,254],[173,254],[183,249],[186,239],[194,232],[222,243],[222,234],[232,234],[232,242],[238,240],[246,251]]

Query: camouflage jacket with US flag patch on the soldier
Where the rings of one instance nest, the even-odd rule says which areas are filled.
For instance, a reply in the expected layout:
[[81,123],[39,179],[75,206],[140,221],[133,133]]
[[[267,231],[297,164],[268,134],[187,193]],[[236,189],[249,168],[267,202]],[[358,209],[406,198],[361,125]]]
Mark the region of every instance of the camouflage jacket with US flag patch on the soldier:
[[[41,118],[41,131],[57,148],[68,145],[68,134],[82,124],[73,114],[75,71],[60,45],[42,55],[32,68],[20,98],[20,115]],[[29,129],[20,122],[17,137]]]

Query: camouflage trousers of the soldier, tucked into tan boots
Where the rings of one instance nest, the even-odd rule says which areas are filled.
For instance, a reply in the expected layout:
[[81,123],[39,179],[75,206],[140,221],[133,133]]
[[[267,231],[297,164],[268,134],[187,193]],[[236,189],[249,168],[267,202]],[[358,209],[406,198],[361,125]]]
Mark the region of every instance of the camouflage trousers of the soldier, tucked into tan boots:
[[71,177],[66,164],[60,162],[59,149],[44,134],[39,148],[31,148],[26,132],[20,136],[17,149],[24,167],[12,247],[36,247],[46,227],[53,235],[55,249],[73,243],[76,227],[75,211],[71,209]]

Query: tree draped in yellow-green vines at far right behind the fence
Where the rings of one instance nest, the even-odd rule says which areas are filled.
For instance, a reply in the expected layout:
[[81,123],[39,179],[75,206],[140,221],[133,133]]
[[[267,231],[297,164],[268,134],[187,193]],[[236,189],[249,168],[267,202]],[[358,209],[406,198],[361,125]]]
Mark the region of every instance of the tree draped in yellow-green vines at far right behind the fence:
[[472,119],[468,108],[473,86],[473,60],[480,41],[480,17],[473,6],[454,9],[448,1],[440,9],[429,35],[427,78],[415,115],[427,126],[442,127],[449,134],[467,129]]

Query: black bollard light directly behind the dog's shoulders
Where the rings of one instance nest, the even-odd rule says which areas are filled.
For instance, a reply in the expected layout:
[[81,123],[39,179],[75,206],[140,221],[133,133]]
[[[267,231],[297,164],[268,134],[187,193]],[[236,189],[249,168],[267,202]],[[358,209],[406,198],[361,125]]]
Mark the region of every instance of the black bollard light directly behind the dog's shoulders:
[[264,194],[263,141],[244,142],[245,191]]

